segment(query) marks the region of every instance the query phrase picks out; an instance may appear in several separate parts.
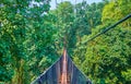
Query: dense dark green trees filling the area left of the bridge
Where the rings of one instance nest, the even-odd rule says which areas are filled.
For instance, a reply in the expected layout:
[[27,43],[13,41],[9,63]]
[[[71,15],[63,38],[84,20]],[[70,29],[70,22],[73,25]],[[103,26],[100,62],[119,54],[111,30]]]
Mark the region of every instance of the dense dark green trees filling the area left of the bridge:
[[48,22],[51,15],[46,14],[49,10],[49,0],[37,1],[38,4],[33,5],[32,3],[29,0],[1,1],[0,81],[2,82],[28,84],[33,76],[45,70],[39,68],[36,72],[35,68],[41,67],[44,62],[50,65],[56,59],[55,48],[51,45],[55,27]]

